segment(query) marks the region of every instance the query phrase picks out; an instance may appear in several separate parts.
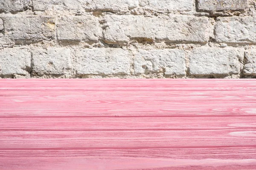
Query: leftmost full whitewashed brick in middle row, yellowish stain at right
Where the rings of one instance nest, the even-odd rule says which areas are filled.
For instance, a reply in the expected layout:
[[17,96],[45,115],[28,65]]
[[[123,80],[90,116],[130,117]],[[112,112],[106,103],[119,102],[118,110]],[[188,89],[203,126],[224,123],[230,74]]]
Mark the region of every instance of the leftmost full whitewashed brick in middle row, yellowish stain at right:
[[55,20],[41,15],[7,15],[3,17],[5,34],[17,43],[55,38]]

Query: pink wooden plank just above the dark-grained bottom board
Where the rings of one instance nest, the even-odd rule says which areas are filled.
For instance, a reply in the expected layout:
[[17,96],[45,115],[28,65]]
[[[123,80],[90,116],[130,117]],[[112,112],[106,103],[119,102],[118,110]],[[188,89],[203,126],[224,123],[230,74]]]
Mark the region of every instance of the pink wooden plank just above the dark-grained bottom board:
[[[255,129],[143,131],[0,131],[0,150],[256,147]],[[14,147],[15,146],[15,147]]]

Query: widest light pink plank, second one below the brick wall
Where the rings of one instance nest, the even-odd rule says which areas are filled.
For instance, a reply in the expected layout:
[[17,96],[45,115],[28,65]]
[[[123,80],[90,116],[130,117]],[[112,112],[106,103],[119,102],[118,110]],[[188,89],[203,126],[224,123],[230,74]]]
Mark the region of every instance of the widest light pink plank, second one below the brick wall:
[[20,91],[3,91],[15,94],[2,95],[0,117],[255,116],[256,111],[254,105],[256,90],[248,92],[246,90],[138,91],[134,89],[134,91],[121,92],[76,90],[69,93],[66,90],[44,90],[26,91],[23,95]]

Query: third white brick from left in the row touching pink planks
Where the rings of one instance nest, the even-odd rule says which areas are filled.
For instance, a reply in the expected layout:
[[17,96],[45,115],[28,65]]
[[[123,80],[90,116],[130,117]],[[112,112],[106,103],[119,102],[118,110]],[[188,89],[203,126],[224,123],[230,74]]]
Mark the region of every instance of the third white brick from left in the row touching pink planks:
[[74,67],[77,74],[129,74],[129,52],[121,48],[77,50]]

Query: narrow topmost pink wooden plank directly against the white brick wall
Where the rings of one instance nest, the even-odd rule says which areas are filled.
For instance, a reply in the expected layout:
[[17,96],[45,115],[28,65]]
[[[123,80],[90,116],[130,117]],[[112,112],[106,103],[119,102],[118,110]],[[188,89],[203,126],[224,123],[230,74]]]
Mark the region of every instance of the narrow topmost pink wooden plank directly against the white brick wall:
[[58,82],[54,79],[8,79],[0,80],[0,84],[3,90],[256,90],[253,79],[58,79]]

